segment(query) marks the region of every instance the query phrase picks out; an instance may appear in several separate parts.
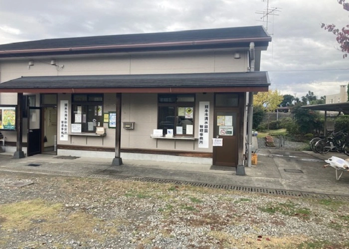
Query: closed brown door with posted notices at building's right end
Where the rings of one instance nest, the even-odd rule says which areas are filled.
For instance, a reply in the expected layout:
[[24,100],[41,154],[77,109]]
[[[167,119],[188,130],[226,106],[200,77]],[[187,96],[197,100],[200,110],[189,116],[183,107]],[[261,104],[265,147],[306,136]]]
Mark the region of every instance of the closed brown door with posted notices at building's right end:
[[238,109],[215,108],[214,137],[223,139],[223,146],[213,147],[213,165],[238,164]]

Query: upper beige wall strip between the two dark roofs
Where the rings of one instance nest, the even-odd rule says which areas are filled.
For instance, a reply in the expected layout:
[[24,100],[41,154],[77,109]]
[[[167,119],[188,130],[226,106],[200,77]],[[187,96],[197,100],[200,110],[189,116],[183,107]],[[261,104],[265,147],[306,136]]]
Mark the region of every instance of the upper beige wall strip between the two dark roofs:
[[[49,58],[40,58],[39,61],[34,60],[34,66],[31,66],[30,70],[28,69],[28,59],[2,60],[0,62],[0,82],[22,76],[246,72],[248,67],[247,52],[241,53],[240,59],[234,59],[232,50],[109,54],[107,56],[81,56],[80,58],[61,56],[57,62],[59,66],[64,65],[64,68],[60,70],[56,70],[55,66],[50,65],[51,59],[50,56]],[[0,99],[4,98],[6,102],[11,100],[11,97],[2,97],[2,95],[4,94],[1,94]],[[13,102],[13,100],[11,101]]]

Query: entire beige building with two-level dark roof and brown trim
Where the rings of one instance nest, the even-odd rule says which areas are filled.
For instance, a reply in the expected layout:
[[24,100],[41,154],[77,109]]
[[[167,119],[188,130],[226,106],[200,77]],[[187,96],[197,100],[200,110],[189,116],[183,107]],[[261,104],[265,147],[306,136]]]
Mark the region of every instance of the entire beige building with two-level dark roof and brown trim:
[[252,26],[0,45],[5,150],[243,167],[270,41]]

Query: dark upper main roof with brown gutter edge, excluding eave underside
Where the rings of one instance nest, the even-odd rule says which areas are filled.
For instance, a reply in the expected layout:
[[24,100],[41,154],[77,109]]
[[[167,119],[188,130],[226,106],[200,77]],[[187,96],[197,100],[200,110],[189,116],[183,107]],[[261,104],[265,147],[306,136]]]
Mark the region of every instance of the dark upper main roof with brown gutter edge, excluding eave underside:
[[110,45],[132,45],[167,42],[191,42],[215,39],[251,39],[265,38],[271,41],[271,37],[262,26],[231,27],[215,29],[199,29],[187,31],[105,35],[90,37],[44,39],[37,41],[16,42],[0,45],[1,50],[28,50],[28,49],[52,49],[52,48],[76,48]]

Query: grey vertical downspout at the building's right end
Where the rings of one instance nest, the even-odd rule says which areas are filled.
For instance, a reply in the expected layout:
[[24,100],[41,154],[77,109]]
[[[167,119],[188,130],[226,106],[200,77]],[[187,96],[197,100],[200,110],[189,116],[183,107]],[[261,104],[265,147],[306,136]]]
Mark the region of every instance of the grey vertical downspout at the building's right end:
[[[254,72],[254,42],[250,43],[250,72]],[[253,92],[248,93],[247,166],[252,167]]]

